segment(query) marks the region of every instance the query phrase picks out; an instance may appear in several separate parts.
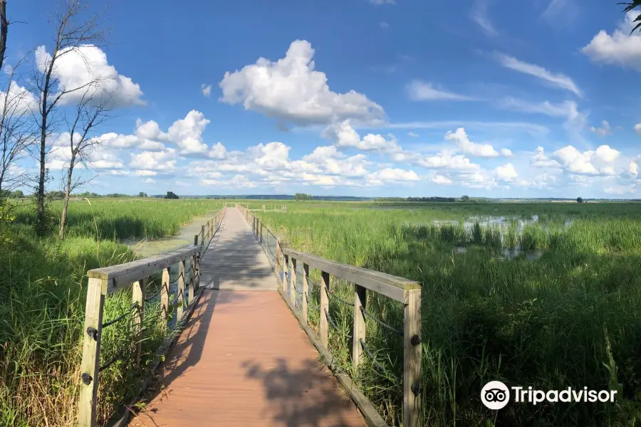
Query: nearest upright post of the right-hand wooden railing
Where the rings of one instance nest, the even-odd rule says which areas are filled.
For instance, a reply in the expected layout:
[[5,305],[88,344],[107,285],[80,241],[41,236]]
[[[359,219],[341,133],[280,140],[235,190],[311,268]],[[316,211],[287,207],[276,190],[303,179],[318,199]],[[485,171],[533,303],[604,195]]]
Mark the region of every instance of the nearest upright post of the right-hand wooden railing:
[[403,427],[416,427],[419,420],[421,376],[421,290],[403,292],[405,330],[403,332]]

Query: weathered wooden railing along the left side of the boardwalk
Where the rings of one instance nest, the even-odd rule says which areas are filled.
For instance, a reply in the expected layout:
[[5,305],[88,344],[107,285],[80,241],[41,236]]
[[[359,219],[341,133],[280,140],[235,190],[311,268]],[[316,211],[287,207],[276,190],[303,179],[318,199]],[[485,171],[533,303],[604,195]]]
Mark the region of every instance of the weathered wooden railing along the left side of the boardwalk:
[[[207,221],[202,226],[201,233],[194,237],[194,246],[178,249],[160,255],[154,255],[142,260],[135,260],[130,263],[112,265],[105,268],[89,270],[87,276],[87,303],[85,306],[85,325],[83,328],[83,359],[80,365],[80,398],[78,401],[78,422],[79,427],[94,427],[96,423],[96,401],[98,394],[98,378],[100,371],[100,336],[103,327],[109,327],[118,322],[121,317],[125,317],[128,312],[123,313],[120,317],[110,322],[103,322],[103,307],[105,297],[123,289],[127,286],[132,287],[132,311],[134,314],[134,337],[132,342],[137,346],[136,366],[140,366],[141,342],[142,342],[142,321],[145,316],[145,300],[150,297],[145,295],[145,285],[147,279],[155,273],[162,272],[162,281],[160,284],[160,317],[159,322],[167,327],[167,318],[169,317],[169,292],[170,285],[177,281],[177,305],[176,319],[177,325],[181,325],[184,320],[191,314],[194,302],[197,301],[200,292],[200,259],[207,251],[205,243],[209,243],[215,236],[220,224],[224,220],[226,207],[218,212],[214,218]],[[207,230],[207,232],[205,232]],[[201,237],[200,244],[198,238]],[[186,270],[186,264],[189,261],[189,270]],[[177,265],[177,279],[170,281],[170,268]],[[185,274],[189,273],[189,280],[185,281]],[[184,287],[187,285],[187,310],[184,310]],[[152,295],[155,297],[157,295]],[[173,313],[172,313],[173,315]],[[177,334],[170,334],[169,341],[165,343],[166,349],[171,342],[177,337]],[[111,362],[109,362],[111,363]],[[108,364],[109,364],[108,363]],[[108,366],[103,365],[103,367]],[[128,414],[127,414],[128,415]]]

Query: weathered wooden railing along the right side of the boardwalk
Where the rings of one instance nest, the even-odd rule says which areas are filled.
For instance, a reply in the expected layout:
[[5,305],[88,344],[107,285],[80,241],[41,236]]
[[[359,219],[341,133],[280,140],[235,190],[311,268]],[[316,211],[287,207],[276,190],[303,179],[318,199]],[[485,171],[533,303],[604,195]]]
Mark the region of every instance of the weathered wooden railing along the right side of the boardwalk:
[[[264,243],[265,233],[271,233],[262,223],[254,216],[251,211],[244,206],[236,204],[236,207],[244,215],[246,221],[251,224],[251,229],[259,243]],[[273,233],[271,233],[273,235]],[[269,236],[268,236],[269,237]],[[274,236],[276,238],[276,236]],[[321,357],[328,366],[330,366],[338,379],[343,383],[346,390],[352,395],[353,400],[358,405],[360,411],[365,416],[365,421],[369,426],[385,426],[386,423],[374,406],[365,398],[358,385],[353,380],[338,372],[335,369],[333,356],[328,350],[328,331],[331,322],[329,314],[329,300],[333,295],[331,290],[332,278],[338,278],[353,285],[354,292],[354,315],[353,326],[351,331],[351,362],[353,367],[358,369],[359,364],[363,361],[363,351],[368,352],[366,347],[367,330],[365,317],[372,317],[372,314],[366,309],[368,307],[368,292],[375,292],[392,300],[401,302],[404,310],[403,329],[385,325],[397,334],[402,334],[403,339],[403,426],[416,427],[419,423],[419,394],[420,390],[420,371],[421,371],[421,288],[422,285],[413,280],[399,278],[397,276],[380,273],[366,268],[354,267],[336,263],[335,261],[320,258],[309,253],[294,251],[291,248],[281,247],[280,239],[276,238],[275,254],[275,272],[278,278],[283,300],[300,322],[303,330],[308,334],[310,341],[316,346]],[[284,262],[281,262],[284,258]],[[302,268],[302,290],[296,290],[296,265],[303,264]],[[318,335],[308,325],[308,288],[310,285],[309,271],[310,268],[320,270],[320,322],[318,325]],[[282,276],[281,276],[282,269]],[[288,273],[291,270],[291,273]],[[296,294],[301,295],[301,307],[296,307]],[[342,301],[351,305],[351,302]],[[376,322],[382,324],[380,320]]]

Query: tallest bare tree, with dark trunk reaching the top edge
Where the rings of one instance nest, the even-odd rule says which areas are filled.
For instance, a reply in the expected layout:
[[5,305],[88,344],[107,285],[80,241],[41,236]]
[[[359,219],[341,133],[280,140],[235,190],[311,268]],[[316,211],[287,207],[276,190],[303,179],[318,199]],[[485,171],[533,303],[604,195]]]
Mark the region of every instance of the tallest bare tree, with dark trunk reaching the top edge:
[[39,100],[36,120],[39,130],[38,162],[40,172],[37,186],[37,223],[36,232],[43,234],[46,230],[45,182],[46,161],[48,154],[47,139],[58,130],[63,122],[58,112],[61,103],[72,94],[83,93],[88,88],[96,88],[97,81],[92,80],[68,88],[61,85],[57,65],[63,56],[78,53],[83,45],[103,46],[107,32],[101,28],[100,15],[87,15],[88,8],[80,0],[64,0],[63,8],[51,19],[55,35],[51,53],[41,53],[33,70],[32,93]]

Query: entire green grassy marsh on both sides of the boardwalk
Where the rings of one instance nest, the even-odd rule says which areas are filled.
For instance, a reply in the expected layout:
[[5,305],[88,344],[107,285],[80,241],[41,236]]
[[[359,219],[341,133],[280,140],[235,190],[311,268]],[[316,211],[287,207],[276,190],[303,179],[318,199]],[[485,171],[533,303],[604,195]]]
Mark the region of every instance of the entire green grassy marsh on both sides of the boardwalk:
[[[132,200],[73,203],[64,241],[55,233],[57,203],[51,236],[33,235],[28,204],[18,207],[13,223],[0,224],[0,426],[73,425],[86,271],[130,260],[120,241],[172,236],[224,203]],[[247,203],[266,206],[257,214],[288,246],[423,283],[424,425],[633,426],[639,418],[641,204]],[[282,205],[286,212],[269,211]],[[530,251],[543,255],[530,260]],[[337,285],[353,298],[348,284]],[[318,302],[318,292],[312,297]],[[402,325],[396,302],[373,297],[369,304],[386,322]],[[130,290],[111,295],[105,320],[129,306]],[[158,307],[147,310],[153,317]],[[350,310],[330,300],[343,332]],[[313,310],[310,318],[318,321]],[[148,362],[166,332],[146,326]],[[101,363],[130,344],[125,320],[105,332]],[[380,412],[397,421],[401,342],[368,321],[368,344],[384,369],[367,358],[353,374]],[[348,348],[344,334],[331,330],[330,349],[346,370]],[[125,363],[101,374],[101,422],[145,374],[144,364],[124,369]],[[619,387],[625,399],[620,406],[512,404],[491,413],[479,391],[495,379],[539,389]]]

